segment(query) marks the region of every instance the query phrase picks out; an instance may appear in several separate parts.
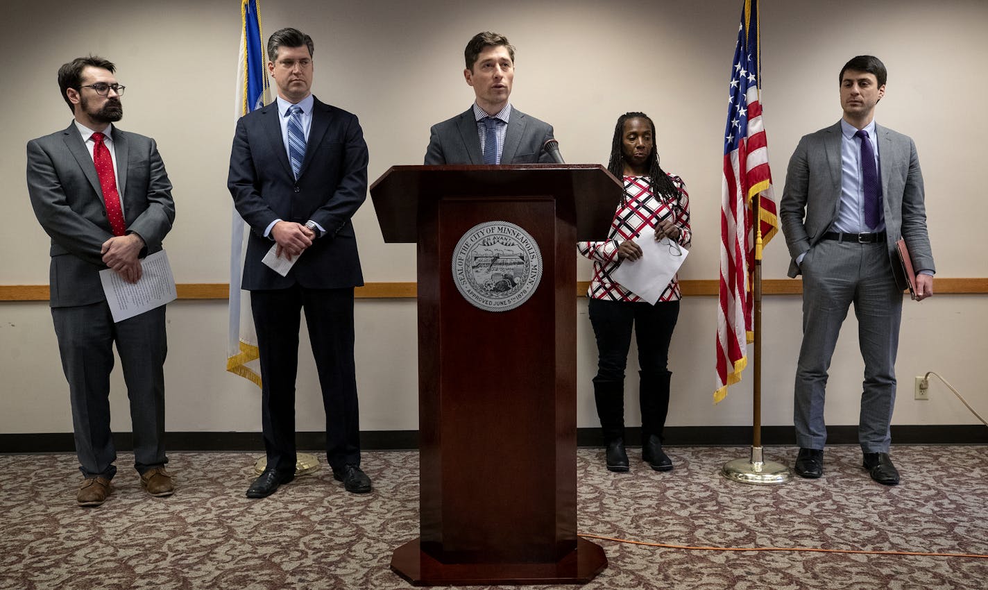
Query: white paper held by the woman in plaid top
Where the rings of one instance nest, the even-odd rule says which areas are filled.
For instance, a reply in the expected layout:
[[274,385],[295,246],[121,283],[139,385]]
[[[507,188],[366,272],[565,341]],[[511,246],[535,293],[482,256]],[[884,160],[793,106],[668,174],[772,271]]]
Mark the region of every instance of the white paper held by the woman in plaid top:
[[611,278],[654,305],[690,251],[667,237],[655,241],[651,227],[642,229],[634,243],[641,247],[641,258],[634,262],[625,258],[611,271]]

